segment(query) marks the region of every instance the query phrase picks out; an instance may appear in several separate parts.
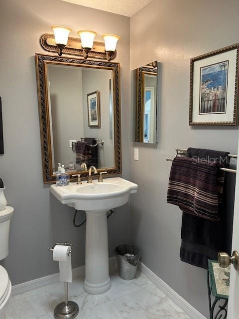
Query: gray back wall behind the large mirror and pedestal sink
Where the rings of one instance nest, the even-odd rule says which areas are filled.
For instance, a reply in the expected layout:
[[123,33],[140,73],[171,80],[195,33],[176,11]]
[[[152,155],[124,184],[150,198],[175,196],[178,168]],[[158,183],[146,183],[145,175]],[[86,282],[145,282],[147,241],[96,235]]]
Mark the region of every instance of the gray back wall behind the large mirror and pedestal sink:
[[[58,271],[48,248],[59,240],[75,245],[73,267],[85,263],[85,227],[74,228],[73,209],[62,205],[43,184],[35,52],[47,54],[39,38],[50,25],[121,36],[116,61],[121,63],[122,168],[129,176],[129,18],[59,0],[1,1],[0,96],[5,154],[0,176],[8,204],[15,208],[10,227],[10,251],[2,262],[12,284]],[[77,37],[76,32],[71,34]],[[96,39],[100,39],[97,37]],[[129,238],[128,206],[109,219],[110,251]],[[83,216],[82,216],[83,218]]]

